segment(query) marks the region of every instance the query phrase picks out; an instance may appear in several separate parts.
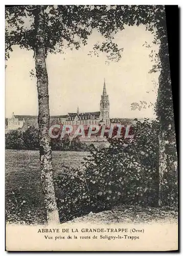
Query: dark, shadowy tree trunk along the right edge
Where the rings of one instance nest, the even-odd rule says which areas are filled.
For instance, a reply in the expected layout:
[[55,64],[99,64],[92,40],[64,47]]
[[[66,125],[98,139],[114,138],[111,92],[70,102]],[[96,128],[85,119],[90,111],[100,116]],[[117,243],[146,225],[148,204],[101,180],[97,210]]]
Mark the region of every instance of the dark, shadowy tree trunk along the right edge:
[[159,57],[162,64],[156,105],[160,124],[158,205],[163,206],[176,205],[178,193],[176,137],[165,17],[159,24],[158,32],[161,41]]

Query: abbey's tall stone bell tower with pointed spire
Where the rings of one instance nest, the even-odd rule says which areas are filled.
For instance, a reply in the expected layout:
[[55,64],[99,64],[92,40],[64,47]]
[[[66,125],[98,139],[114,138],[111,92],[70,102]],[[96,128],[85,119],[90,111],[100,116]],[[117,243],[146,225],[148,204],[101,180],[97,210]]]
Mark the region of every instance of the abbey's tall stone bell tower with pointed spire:
[[100,100],[100,120],[103,121],[105,125],[110,124],[109,97],[106,92],[105,78],[104,78],[103,94],[101,95],[101,100]]

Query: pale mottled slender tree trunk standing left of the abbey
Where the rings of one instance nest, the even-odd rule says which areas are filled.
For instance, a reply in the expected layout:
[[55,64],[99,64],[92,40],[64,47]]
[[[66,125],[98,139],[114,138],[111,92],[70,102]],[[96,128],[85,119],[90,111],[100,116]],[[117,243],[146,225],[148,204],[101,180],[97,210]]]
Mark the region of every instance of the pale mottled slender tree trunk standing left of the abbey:
[[45,30],[44,6],[38,6],[35,14],[35,66],[38,92],[38,125],[39,125],[39,154],[41,166],[41,181],[44,194],[44,204],[47,210],[48,224],[60,223],[55,198],[51,145],[49,137],[50,111],[48,74],[45,63]]

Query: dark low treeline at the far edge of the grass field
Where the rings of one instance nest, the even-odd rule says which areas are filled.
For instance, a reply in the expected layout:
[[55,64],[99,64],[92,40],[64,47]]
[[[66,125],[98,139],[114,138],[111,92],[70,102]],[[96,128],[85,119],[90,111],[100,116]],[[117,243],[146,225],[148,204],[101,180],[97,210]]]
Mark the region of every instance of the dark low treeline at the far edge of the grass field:
[[[91,145],[80,142],[79,137],[70,140],[68,135],[63,139],[51,139],[52,150],[55,151],[90,151]],[[39,133],[34,126],[25,132],[11,131],[5,135],[5,148],[7,150],[38,150]]]

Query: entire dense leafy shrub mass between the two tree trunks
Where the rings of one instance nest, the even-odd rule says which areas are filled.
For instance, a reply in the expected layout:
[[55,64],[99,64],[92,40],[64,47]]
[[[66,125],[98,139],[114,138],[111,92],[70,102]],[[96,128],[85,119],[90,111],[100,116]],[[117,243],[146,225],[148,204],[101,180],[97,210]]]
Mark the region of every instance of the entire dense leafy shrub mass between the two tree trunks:
[[108,139],[108,148],[93,147],[83,170],[55,178],[61,220],[119,203],[157,205],[158,123],[145,120],[133,129],[133,139]]

